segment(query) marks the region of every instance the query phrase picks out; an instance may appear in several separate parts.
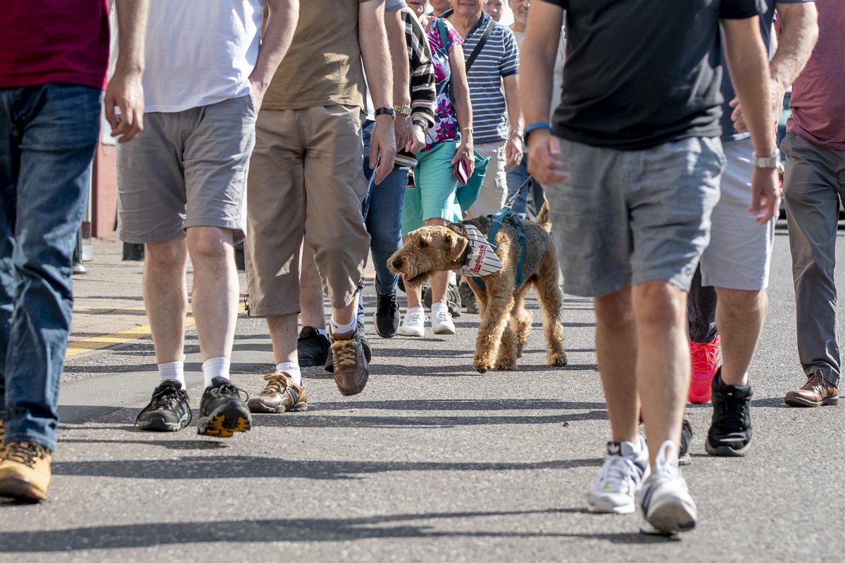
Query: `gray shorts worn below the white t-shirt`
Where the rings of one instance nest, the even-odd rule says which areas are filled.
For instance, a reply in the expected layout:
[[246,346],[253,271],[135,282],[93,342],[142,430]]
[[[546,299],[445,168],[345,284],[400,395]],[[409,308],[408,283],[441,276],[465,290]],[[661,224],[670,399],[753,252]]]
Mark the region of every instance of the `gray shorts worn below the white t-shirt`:
[[144,131],[117,143],[117,234],[170,241],[188,227],[231,229],[243,241],[243,189],[257,111],[246,95],[173,113],[144,114]]

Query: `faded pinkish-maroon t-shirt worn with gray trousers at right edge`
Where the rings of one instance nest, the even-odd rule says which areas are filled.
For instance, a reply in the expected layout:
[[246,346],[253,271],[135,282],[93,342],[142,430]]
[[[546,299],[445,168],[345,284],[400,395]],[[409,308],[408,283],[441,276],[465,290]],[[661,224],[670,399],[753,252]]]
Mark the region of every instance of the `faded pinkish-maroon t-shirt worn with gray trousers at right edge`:
[[845,149],[845,5],[816,0],[819,41],[793,84],[787,131],[827,149]]

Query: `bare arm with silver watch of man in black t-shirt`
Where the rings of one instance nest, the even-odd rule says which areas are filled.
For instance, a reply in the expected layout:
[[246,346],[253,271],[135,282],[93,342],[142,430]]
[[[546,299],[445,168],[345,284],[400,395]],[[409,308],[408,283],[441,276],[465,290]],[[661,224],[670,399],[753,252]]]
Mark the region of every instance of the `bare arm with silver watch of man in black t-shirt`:
[[[733,85],[751,133],[754,152],[767,156],[775,151],[775,128],[771,123],[771,88],[766,47],[760,37],[760,20],[723,19],[725,52]],[[751,175],[751,214],[762,225],[777,213],[777,170],[754,168]]]

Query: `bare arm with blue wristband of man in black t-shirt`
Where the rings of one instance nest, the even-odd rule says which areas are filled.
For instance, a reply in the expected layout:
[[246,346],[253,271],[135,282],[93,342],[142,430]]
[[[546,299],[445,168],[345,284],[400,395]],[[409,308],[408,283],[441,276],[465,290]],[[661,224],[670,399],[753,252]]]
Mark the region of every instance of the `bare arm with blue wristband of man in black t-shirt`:
[[[554,60],[563,23],[564,10],[559,6],[546,2],[532,4],[520,58],[522,114],[528,125],[548,124],[553,73],[556,70]],[[559,170],[560,145],[550,131],[537,129],[531,133],[528,146],[528,171],[537,181],[550,186],[568,177]]]

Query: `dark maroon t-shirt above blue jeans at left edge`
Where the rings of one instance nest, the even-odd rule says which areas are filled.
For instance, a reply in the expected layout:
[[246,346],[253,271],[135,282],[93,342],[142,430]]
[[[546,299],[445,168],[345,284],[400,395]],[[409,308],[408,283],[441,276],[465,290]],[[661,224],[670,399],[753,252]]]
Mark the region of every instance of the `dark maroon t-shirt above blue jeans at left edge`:
[[0,88],[48,82],[104,89],[108,0],[3,0]]

